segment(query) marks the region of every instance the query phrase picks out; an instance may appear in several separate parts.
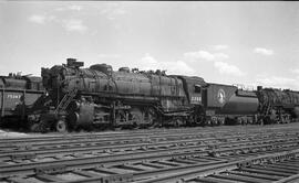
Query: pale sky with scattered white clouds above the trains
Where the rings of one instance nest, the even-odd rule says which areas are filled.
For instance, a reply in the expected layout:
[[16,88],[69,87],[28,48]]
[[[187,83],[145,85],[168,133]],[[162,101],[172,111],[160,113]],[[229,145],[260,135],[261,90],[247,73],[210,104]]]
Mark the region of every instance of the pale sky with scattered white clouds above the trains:
[[299,2],[0,2],[0,74],[75,57],[299,89]]

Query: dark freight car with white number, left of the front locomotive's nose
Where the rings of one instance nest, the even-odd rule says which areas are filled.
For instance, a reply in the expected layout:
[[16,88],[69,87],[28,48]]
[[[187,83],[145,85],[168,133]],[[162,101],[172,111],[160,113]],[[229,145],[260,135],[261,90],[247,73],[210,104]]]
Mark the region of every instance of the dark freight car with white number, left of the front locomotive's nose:
[[0,76],[0,125],[25,121],[30,106],[44,93],[41,77]]

